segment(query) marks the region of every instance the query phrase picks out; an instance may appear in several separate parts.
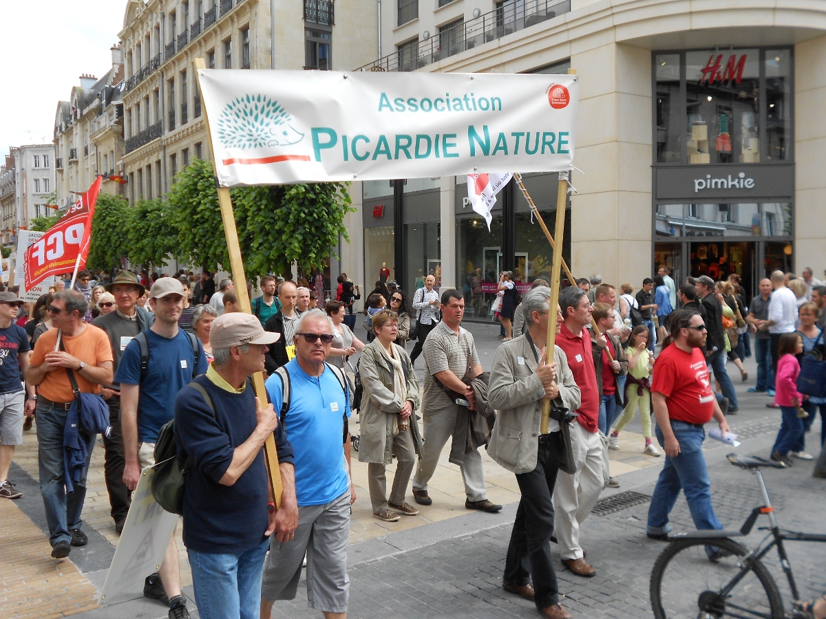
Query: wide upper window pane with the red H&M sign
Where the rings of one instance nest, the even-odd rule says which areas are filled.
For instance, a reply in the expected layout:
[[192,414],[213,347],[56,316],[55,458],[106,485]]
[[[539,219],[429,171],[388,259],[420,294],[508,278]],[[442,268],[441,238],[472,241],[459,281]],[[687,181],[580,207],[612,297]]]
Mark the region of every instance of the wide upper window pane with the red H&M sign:
[[760,161],[759,50],[686,53],[688,163]]

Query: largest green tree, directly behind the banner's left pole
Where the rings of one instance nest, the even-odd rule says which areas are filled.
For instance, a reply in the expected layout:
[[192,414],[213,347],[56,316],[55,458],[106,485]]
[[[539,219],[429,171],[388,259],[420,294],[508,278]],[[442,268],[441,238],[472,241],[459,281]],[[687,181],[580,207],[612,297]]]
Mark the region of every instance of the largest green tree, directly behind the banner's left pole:
[[[247,276],[287,272],[294,261],[323,268],[339,234],[349,240],[344,214],[353,209],[343,183],[235,187],[230,196]],[[206,268],[228,268],[211,163],[196,160],[185,168],[168,199],[169,220],[177,229],[175,253]]]

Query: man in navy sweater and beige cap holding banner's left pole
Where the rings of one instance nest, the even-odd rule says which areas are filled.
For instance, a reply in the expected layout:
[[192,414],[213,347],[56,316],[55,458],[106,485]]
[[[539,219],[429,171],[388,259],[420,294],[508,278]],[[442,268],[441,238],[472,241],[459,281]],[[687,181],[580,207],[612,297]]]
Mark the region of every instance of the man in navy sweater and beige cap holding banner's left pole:
[[252,314],[219,317],[210,337],[215,361],[175,400],[178,457],[195,460],[183,497],[183,543],[202,617],[258,619],[269,536],[291,541],[298,525],[297,510],[275,511],[261,449],[274,431],[286,506],[296,503],[292,446],[273,404],[259,401],[247,380],[263,371],[268,344],[279,337]]

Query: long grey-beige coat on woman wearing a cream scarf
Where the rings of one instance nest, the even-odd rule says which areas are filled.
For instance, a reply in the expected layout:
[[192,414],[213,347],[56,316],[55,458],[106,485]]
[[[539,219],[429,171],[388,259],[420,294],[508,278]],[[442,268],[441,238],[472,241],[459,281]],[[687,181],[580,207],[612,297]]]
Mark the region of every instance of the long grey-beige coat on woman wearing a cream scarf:
[[[358,461],[388,465],[392,462],[392,438],[399,432],[399,414],[404,402],[393,390],[393,368],[384,358],[377,339],[364,347],[358,368],[364,388],[362,408],[358,411],[359,437]],[[411,357],[398,344],[393,344],[401,355],[401,368],[407,379],[407,399],[413,403],[410,432],[416,454],[421,456],[421,436],[416,423],[415,411],[419,408],[419,379],[413,371]]]

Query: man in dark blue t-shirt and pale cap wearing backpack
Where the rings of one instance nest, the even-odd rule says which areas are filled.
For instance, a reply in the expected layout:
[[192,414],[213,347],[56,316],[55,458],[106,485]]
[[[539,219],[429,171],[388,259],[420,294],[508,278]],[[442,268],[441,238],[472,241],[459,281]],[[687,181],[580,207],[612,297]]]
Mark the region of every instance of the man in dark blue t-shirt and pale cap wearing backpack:
[[[123,481],[134,490],[140,471],[154,465],[154,443],[175,411],[178,391],[207,371],[207,356],[192,333],[178,327],[183,310],[183,286],[173,277],[161,277],[150,290],[152,327],[126,345],[115,380],[121,385],[121,430],[126,455]],[[181,594],[178,548],[169,541],[159,574],[150,574],[144,595],[169,605],[169,617],[189,617]]]

